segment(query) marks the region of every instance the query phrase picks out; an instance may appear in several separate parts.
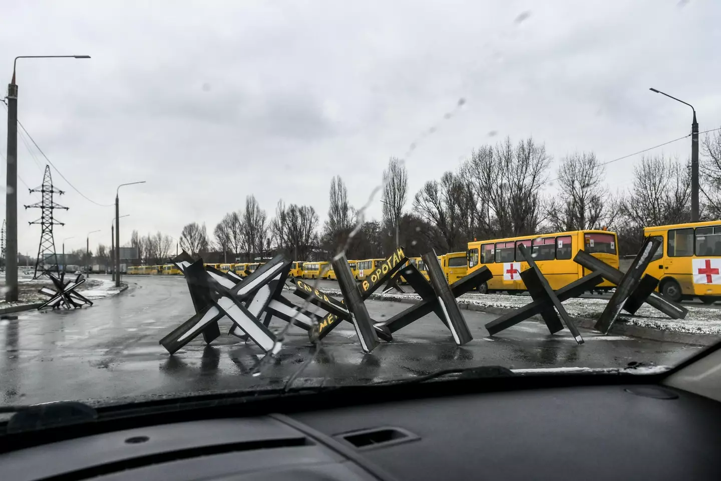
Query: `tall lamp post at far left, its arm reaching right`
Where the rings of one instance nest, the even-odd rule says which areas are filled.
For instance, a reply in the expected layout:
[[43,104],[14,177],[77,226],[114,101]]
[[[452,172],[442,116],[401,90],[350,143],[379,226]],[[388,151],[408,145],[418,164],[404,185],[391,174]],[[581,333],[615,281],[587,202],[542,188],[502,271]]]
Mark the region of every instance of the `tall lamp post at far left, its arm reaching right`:
[[7,187],[5,190],[6,255],[5,300],[17,301],[17,84],[15,64],[18,58],[90,58],[87,55],[17,56],[12,63],[12,81],[7,86]]

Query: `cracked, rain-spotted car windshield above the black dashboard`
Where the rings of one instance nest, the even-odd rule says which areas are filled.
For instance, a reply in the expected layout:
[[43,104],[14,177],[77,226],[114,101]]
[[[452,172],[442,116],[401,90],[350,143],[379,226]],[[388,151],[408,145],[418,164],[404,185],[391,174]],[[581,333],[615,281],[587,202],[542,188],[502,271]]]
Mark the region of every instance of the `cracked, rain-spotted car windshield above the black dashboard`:
[[0,406],[676,366],[721,339],[720,14],[7,5]]

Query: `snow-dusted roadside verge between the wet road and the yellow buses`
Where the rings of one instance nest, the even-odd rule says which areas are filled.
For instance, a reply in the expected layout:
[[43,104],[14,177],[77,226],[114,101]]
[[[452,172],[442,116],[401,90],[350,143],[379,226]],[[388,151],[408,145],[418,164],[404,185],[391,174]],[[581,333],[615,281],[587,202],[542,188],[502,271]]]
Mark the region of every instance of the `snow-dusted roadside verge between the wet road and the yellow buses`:
[[[341,295],[337,289],[325,289],[324,292],[326,294],[332,294],[333,296]],[[420,296],[412,293],[401,294],[399,292],[388,292],[386,294],[375,293],[371,295],[371,299],[381,301],[412,299],[420,301]],[[531,296],[478,294],[475,292],[464,294],[458,298],[459,304],[472,304],[479,306],[481,309],[518,309],[531,301]],[[564,301],[563,306],[572,317],[598,319],[607,303],[607,299],[575,298]],[[650,327],[663,331],[721,335],[721,310],[696,307],[689,304],[684,304],[684,306],[686,309],[689,309],[689,314],[686,315],[686,319],[669,319],[662,312],[648,304],[644,304],[634,315],[622,312],[616,322],[624,322],[627,325]]]

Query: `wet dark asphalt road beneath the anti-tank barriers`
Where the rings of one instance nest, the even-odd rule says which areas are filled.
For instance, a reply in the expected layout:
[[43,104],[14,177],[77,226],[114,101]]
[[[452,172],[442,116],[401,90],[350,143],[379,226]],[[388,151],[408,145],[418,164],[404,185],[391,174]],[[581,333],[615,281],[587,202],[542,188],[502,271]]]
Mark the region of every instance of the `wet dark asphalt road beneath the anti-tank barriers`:
[[[487,364],[512,369],[623,367],[631,361],[672,365],[699,350],[583,329],[586,342],[577,345],[567,331],[549,335],[534,321],[488,337],[482,326],[497,316],[463,311],[474,340],[460,348],[434,314],[396,332],[392,343],[381,343],[369,354],[361,350],[350,323],[337,327],[320,348],[309,344],[305,331],[291,327],[283,350],[260,376],[252,376],[262,351],[225,335],[227,321],[212,345],[198,337],[169,356],[158,344],[193,314],[182,278],[124,280],[128,291],[89,308],[25,312],[17,320],[0,321],[0,405],[280,387],[306,363],[296,386],[367,383]],[[366,306],[373,319],[381,320],[410,304],[366,301]],[[279,330],[284,324],[273,319],[271,327]]]

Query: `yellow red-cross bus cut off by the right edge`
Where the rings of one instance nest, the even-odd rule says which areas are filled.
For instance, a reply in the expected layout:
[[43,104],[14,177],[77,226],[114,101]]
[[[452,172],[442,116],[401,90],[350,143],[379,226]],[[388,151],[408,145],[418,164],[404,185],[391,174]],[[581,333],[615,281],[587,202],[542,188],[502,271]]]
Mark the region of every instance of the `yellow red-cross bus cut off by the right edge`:
[[660,280],[657,290],[673,301],[698,296],[721,299],[721,221],[645,227],[645,237],[663,241],[645,274]]

